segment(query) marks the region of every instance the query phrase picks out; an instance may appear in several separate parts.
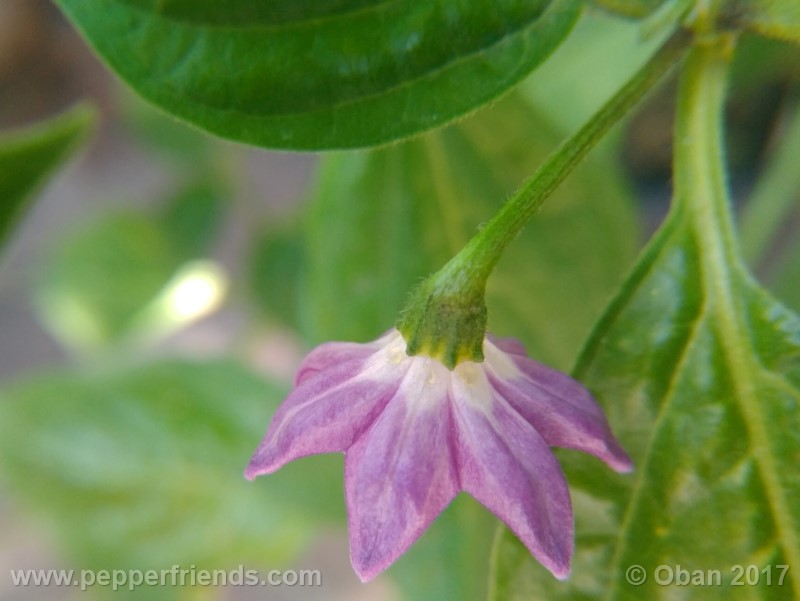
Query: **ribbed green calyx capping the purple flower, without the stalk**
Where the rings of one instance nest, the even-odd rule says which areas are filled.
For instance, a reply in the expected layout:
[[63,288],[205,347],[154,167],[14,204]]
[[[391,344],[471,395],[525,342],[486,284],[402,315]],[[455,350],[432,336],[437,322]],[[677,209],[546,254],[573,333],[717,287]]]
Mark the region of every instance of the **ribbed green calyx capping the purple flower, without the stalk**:
[[426,355],[451,370],[483,361],[486,335],[486,278],[459,257],[414,289],[397,322],[407,354]]

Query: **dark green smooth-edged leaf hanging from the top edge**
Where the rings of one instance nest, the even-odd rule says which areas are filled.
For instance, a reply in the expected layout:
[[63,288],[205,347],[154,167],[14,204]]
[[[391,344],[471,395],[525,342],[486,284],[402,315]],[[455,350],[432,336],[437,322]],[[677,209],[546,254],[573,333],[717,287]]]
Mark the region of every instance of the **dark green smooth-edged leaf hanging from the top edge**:
[[117,74],[225,138],[349,148],[496,98],[567,35],[575,0],[58,0]]

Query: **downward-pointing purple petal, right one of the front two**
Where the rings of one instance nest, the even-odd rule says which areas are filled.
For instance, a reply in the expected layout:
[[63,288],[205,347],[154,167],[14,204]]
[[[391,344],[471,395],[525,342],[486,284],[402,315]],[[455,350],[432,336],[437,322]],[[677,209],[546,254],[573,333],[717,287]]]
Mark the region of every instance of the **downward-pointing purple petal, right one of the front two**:
[[519,537],[554,576],[569,574],[572,505],[561,467],[528,422],[493,394],[482,367],[453,378],[461,485]]

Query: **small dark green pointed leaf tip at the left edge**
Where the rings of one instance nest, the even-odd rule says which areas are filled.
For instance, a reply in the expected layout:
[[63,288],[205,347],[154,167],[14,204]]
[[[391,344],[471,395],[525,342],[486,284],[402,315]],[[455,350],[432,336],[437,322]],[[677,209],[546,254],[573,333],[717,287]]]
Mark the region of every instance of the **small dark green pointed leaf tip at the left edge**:
[[25,201],[82,142],[94,109],[79,105],[43,123],[0,134],[0,243],[11,232]]

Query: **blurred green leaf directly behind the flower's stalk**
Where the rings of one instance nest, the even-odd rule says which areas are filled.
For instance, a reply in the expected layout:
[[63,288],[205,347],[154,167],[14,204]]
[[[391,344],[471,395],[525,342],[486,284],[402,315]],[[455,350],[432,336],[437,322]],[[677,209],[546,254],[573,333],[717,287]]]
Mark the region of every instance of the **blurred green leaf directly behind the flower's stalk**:
[[[558,139],[511,96],[410,142],[326,158],[307,222],[312,341],[368,340],[391,327],[411,288],[461,249]],[[625,191],[600,158],[554,195],[489,283],[490,328],[562,367],[636,247]]]

